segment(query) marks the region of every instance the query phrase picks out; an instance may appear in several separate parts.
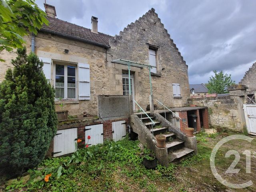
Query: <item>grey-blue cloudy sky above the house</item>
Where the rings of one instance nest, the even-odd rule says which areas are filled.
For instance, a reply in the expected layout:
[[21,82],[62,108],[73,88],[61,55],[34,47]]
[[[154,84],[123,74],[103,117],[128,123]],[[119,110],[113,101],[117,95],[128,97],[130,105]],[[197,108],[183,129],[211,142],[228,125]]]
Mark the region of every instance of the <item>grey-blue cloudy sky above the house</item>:
[[[44,0],[36,0],[44,10]],[[190,84],[207,83],[213,70],[239,82],[256,62],[256,0],[46,0],[57,18],[114,36],[154,8],[186,64]]]

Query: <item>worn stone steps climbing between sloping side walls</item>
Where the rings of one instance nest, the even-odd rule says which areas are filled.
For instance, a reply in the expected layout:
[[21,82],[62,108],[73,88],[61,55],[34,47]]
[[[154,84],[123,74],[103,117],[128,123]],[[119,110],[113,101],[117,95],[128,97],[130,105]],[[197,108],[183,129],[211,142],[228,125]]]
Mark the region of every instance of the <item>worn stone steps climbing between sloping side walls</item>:
[[174,132],[168,131],[167,126],[162,126],[162,122],[156,120],[155,116],[150,116],[150,113],[148,114],[155,123],[152,129],[152,122],[146,116],[146,114],[137,113],[136,115],[139,117],[140,121],[142,121],[142,123],[150,130],[151,133],[153,131],[154,136],[158,134],[166,136],[166,148],[168,151],[169,163],[179,163],[181,160],[194,153],[194,149],[185,147],[184,141],[178,139]]

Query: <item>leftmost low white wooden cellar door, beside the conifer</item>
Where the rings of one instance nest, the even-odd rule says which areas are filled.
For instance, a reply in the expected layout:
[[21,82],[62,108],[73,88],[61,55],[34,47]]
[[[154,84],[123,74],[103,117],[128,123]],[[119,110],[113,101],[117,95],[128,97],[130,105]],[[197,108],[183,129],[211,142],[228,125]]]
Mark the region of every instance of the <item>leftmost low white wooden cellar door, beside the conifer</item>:
[[54,136],[53,156],[58,157],[76,151],[77,128],[58,130]]

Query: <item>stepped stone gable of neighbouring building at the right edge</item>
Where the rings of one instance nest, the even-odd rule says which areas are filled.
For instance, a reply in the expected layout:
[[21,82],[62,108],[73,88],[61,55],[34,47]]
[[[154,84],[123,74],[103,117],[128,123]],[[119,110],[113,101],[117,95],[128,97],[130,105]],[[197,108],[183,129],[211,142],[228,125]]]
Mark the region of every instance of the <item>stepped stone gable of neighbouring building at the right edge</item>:
[[245,73],[239,84],[245,85],[247,91],[256,91],[256,63]]

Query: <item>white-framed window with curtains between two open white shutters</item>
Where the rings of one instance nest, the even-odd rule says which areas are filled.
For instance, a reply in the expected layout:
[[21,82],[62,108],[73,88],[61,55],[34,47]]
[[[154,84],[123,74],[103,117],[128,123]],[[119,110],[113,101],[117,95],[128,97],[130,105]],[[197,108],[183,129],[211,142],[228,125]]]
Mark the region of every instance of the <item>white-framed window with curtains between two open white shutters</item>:
[[76,98],[76,66],[55,65],[55,98]]

